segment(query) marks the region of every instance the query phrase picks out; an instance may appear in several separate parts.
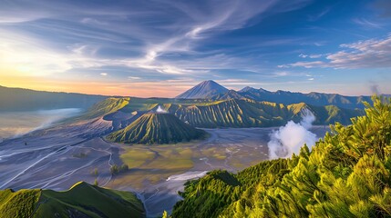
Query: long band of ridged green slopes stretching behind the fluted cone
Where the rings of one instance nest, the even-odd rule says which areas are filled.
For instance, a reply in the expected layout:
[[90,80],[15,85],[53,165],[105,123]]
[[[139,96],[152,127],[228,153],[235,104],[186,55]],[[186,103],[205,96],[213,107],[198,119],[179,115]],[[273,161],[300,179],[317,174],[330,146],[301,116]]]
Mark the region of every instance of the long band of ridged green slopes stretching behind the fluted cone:
[[108,98],[72,120],[104,116],[105,120],[112,121],[115,129],[118,129],[133,123],[142,114],[156,111],[159,105],[170,114],[175,114],[182,122],[201,128],[279,126],[289,120],[298,122],[304,108],[310,109],[316,116],[314,124],[334,124],[335,121],[351,124],[350,118],[364,114],[363,110],[334,105],[276,104],[250,99],[209,102],[190,99]]

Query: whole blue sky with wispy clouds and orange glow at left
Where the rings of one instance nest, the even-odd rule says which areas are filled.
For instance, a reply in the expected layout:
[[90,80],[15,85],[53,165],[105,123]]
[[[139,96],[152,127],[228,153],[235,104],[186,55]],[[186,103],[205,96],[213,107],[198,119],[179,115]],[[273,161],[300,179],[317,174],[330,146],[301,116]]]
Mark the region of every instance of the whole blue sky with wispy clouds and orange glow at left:
[[0,85],[391,94],[389,0],[0,0]]

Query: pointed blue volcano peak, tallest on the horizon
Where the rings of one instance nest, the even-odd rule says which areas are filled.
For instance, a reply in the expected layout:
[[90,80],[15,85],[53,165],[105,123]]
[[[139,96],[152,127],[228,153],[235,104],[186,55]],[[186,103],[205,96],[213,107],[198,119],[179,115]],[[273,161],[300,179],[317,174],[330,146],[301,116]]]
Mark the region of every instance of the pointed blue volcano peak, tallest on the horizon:
[[190,88],[188,91],[178,95],[176,98],[210,98],[215,94],[224,94],[228,89],[217,84],[212,80],[203,81],[200,84]]

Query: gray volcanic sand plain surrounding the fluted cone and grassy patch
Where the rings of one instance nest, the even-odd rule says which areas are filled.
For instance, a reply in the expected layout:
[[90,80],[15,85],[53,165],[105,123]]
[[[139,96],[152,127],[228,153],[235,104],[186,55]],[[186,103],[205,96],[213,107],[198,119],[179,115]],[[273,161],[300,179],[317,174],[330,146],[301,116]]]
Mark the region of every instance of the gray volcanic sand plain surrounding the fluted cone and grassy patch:
[[[44,188],[60,191],[67,190],[78,181],[94,183],[97,179],[100,186],[136,192],[143,200],[148,216],[154,217],[161,215],[163,210],[172,209],[180,200],[177,193],[183,190],[187,180],[201,177],[213,169],[237,172],[267,160],[269,134],[276,129],[206,129],[210,134],[208,139],[187,146],[194,154],[208,155],[193,158],[193,167],[187,172],[174,171],[170,177],[161,176],[156,183],[145,179],[115,186],[113,182],[116,178],[112,178],[109,167],[114,163],[122,164],[119,155],[125,152],[124,146],[127,145],[109,144],[101,138],[110,126],[111,122],[100,119],[38,130],[20,138],[5,140],[0,143],[0,189]],[[323,137],[327,130],[324,126],[314,126],[312,132]],[[91,173],[95,169],[98,176]],[[148,173],[159,175],[159,170],[151,169],[143,176],[148,178]],[[131,173],[132,170],[129,171]]]

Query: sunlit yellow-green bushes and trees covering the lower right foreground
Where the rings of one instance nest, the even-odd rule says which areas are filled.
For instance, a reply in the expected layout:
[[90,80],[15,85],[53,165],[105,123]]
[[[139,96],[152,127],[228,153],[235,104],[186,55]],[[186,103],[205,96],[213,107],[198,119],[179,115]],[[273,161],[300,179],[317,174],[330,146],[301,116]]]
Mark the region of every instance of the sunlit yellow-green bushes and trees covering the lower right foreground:
[[391,217],[391,99],[291,159],[186,183],[172,217]]

